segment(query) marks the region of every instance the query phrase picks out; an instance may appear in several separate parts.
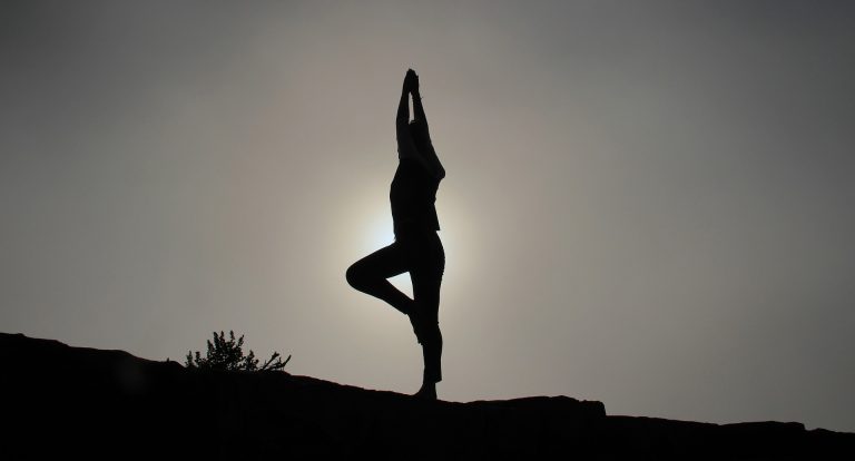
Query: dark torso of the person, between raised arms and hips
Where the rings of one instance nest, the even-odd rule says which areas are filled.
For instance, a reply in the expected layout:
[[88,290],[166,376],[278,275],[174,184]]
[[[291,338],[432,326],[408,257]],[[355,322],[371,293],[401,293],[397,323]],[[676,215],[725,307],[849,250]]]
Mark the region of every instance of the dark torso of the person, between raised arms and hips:
[[395,236],[419,230],[439,230],[436,189],[440,179],[431,176],[416,160],[402,158],[392,179],[389,199]]

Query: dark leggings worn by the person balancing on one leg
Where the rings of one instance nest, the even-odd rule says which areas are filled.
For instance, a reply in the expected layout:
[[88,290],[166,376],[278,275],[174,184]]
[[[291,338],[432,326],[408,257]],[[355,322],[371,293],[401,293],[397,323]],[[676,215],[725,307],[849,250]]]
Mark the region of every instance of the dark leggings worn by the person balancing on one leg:
[[[445,252],[435,232],[414,232],[395,236],[392,245],[377,249],[347,268],[347,283],[354,288],[389,303],[410,316],[422,344],[424,382],[442,381],[440,333],[440,285],[445,269]],[[387,278],[410,273],[411,300]]]

